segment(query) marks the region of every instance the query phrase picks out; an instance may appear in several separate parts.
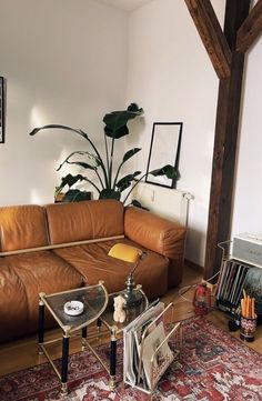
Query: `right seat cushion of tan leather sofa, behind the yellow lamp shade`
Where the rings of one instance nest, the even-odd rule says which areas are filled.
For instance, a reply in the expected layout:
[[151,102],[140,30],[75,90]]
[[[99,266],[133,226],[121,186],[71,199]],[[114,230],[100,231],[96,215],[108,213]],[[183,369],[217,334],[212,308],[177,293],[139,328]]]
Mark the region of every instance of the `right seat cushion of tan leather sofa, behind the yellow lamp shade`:
[[[163,295],[168,290],[168,259],[128,239],[121,239],[121,242],[147,253],[134,272],[135,283],[142,285],[149,299]],[[87,285],[103,280],[108,292],[115,292],[127,287],[125,281],[133,263],[108,255],[114,243],[113,240],[103,241],[56,249],[54,252],[83,275]]]

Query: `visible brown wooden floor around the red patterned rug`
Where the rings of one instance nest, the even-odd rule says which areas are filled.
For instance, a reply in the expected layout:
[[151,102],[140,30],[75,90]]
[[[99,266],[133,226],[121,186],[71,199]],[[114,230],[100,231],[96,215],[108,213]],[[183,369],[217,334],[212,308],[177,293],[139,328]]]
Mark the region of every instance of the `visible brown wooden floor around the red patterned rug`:
[[[201,281],[201,273],[196,272],[190,267],[185,267],[183,282],[180,285],[184,288],[185,285],[192,285]],[[173,302],[174,303],[174,320],[183,320],[191,315],[193,315],[192,308],[192,294],[194,289],[190,289],[183,298],[179,294],[179,289],[169,291],[164,297],[164,303]],[[181,291],[183,292],[183,291]],[[229,315],[225,313],[213,310],[208,317],[215,325],[229,332],[228,322]],[[91,328],[92,330],[92,328]],[[94,328],[93,328],[94,330]],[[58,330],[52,330],[48,333],[47,339],[51,339],[58,335]],[[232,335],[239,338],[239,331],[232,333]],[[102,341],[102,340],[99,340]],[[259,353],[262,354],[262,325],[259,325],[255,333],[255,341],[246,344]],[[60,343],[56,343],[52,345],[51,355],[52,358],[60,358]],[[74,353],[80,351],[81,344],[79,339],[72,339],[70,342],[70,353]],[[13,341],[6,344],[0,344],[0,375],[8,374],[11,372],[19,371],[21,369],[26,369],[29,367],[33,367],[39,363],[46,362],[46,358],[43,355],[38,355],[38,347],[37,347],[37,337],[28,337],[27,339]]]

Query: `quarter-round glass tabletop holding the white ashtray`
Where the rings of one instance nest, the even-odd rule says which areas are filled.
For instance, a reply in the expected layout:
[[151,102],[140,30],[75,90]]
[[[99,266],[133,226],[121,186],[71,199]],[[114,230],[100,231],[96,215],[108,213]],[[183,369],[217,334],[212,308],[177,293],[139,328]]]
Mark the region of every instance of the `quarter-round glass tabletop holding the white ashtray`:
[[[49,295],[40,293],[40,298],[59,325],[63,330],[67,329],[68,332],[72,332],[97,320],[107,308],[109,297],[104,285],[99,283]],[[70,301],[83,303],[81,314],[69,315],[64,312],[64,304]]]

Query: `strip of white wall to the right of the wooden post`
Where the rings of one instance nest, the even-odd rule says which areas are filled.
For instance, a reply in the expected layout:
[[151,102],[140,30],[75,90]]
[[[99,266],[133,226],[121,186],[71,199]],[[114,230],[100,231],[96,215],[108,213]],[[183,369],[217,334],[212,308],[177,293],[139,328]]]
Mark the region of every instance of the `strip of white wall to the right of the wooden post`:
[[260,38],[250,49],[245,64],[232,238],[241,232],[262,235],[261,71],[262,39]]

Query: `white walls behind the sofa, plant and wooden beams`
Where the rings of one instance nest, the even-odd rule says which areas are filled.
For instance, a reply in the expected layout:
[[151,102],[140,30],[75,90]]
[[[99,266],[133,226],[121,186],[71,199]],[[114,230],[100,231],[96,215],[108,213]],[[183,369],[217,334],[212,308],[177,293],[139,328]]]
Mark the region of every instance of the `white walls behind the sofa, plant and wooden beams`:
[[[222,22],[224,0],[212,3]],[[154,121],[184,124],[178,189],[194,197],[187,258],[203,265],[219,82],[184,1],[153,0],[130,14],[92,0],[0,0],[0,74],[8,78],[0,204],[52,202],[56,168],[83,147],[66,132],[31,138],[33,127],[69,124],[101,141],[103,114],[137,101],[144,120],[125,141],[142,147],[134,169],[147,169]],[[232,234],[262,232],[261,63],[260,40],[246,63]]]

